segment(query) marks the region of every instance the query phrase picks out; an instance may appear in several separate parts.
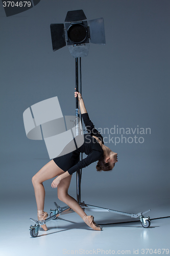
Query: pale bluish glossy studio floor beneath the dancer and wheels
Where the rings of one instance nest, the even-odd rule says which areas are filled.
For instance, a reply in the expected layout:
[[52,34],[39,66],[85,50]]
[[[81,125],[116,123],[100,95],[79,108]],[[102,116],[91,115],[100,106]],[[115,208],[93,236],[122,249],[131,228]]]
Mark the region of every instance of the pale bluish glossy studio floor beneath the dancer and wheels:
[[[49,206],[52,200],[50,197],[46,199]],[[169,254],[170,218],[154,219],[149,228],[143,228],[140,221],[130,217],[111,212],[87,211],[87,215],[95,217],[96,223],[103,224],[102,231],[94,231],[76,213],[71,213],[49,221],[48,230],[40,228],[38,237],[32,238],[29,227],[33,222],[30,217],[36,219],[36,205],[33,202],[31,196],[22,201],[14,201],[11,198],[1,204],[3,210],[0,255]],[[96,203],[99,205],[99,202]],[[31,204],[33,209],[30,208]],[[51,204],[50,208],[55,208],[53,206]],[[106,204],[103,207],[105,206]],[[127,205],[125,207],[128,208]],[[166,216],[168,210],[164,209]],[[148,216],[149,213],[145,214],[145,217]]]

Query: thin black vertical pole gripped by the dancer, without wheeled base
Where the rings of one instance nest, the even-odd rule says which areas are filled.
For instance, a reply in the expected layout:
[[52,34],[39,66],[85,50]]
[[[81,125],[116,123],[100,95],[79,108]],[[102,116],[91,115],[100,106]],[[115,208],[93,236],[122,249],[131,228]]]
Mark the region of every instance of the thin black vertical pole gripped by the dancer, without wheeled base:
[[[76,91],[79,91],[78,58],[76,58]],[[76,117],[79,117],[79,100],[76,98]],[[77,120],[75,120],[77,122]],[[80,157],[79,157],[80,160]],[[81,170],[77,171],[77,201],[81,203]]]

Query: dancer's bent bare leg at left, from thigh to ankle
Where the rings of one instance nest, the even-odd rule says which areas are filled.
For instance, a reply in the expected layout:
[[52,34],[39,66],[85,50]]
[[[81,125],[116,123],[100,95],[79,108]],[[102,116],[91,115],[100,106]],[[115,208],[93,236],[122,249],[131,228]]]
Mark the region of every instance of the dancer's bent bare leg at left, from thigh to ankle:
[[64,171],[53,160],[51,160],[45,164],[39,172],[36,173],[36,175],[34,175],[32,182],[35,191],[37,210],[44,209],[45,190],[42,182],[52,179],[62,173],[64,173]]

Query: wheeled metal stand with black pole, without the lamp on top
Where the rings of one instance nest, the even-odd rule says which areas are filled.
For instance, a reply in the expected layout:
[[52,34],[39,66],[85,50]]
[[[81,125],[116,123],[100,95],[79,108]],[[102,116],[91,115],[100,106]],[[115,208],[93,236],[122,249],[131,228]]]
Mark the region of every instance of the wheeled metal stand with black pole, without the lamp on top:
[[[79,58],[79,63],[80,63],[80,67],[78,67],[78,58],[76,58],[76,91],[77,92],[79,91],[79,75],[78,74],[80,72],[80,93],[82,94],[81,57]],[[80,134],[78,118],[79,118],[79,102],[78,102],[78,97],[77,97],[76,98],[76,119],[75,119],[76,136],[78,136]],[[82,159],[83,159],[83,154],[81,153],[81,160]],[[80,158],[79,158],[79,160],[80,160]],[[81,177],[82,177],[82,170],[78,170],[77,171],[77,201],[84,211],[85,210],[86,211],[102,211],[102,212],[108,211],[108,212],[113,212],[115,214],[129,216],[131,218],[139,217],[139,219],[141,221],[141,225],[144,228],[148,228],[150,226],[150,224],[151,224],[150,217],[144,218],[144,216],[143,216],[145,213],[150,211],[150,209],[147,211],[144,211],[144,212],[138,212],[138,214],[129,214],[129,213],[122,212],[122,211],[117,211],[117,210],[112,210],[112,209],[103,208],[103,207],[99,207],[99,206],[89,205],[89,204],[86,204],[84,201],[81,202]],[[38,236],[38,231],[40,229],[40,225],[43,225],[50,220],[56,220],[58,218],[58,217],[56,217],[56,215],[64,215],[64,214],[69,214],[71,212],[75,212],[74,210],[70,209],[69,206],[60,207],[59,205],[57,205],[56,202],[54,202],[54,204],[55,204],[56,208],[54,210],[52,210],[52,209],[50,210],[50,217],[47,218],[46,220],[36,221],[36,220],[30,218],[32,221],[35,222],[34,226],[32,226],[32,225],[30,226],[30,234],[32,237]]]

